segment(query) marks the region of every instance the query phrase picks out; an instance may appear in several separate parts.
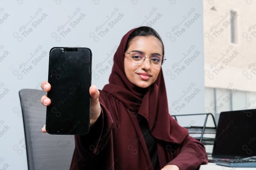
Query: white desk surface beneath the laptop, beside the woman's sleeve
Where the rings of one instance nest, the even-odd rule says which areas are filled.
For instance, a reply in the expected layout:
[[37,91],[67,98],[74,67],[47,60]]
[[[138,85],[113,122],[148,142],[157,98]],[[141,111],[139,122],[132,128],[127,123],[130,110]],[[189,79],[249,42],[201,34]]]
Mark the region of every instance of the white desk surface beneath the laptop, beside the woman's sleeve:
[[256,170],[256,167],[227,167],[209,162],[206,165],[201,165],[199,170]]

